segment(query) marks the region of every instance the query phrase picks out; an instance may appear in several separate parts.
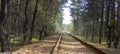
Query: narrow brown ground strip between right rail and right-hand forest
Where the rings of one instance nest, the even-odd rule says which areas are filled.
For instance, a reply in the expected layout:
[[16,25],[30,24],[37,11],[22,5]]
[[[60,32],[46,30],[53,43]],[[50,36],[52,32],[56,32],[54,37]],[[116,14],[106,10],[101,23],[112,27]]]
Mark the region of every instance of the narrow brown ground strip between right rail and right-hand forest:
[[79,38],[80,40],[84,41],[85,43],[92,45],[103,52],[106,52],[107,54],[120,54],[120,50],[118,50],[118,49],[107,48],[106,45],[104,45],[104,44],[100,45],[99,43],[96,43],[95,41],[94,42],[91,42],[90,40],[88,41],[81,36],[76,35],[76,37]]

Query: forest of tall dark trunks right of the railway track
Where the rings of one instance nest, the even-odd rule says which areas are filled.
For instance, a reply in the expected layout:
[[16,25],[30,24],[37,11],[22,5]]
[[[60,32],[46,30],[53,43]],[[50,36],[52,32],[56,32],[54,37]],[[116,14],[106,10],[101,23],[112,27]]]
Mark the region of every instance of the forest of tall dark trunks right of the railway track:
[[73,0],[74,32],[90,41],[120,48],[120,0]]

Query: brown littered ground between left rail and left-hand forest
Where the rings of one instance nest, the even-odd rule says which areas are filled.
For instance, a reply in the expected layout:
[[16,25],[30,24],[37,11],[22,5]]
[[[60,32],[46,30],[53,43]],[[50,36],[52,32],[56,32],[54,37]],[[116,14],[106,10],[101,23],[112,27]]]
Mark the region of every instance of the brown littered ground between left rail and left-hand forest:
[[39,43],[34,43],[12,52],[12,54],[50,54],[58,36],[47,37]]

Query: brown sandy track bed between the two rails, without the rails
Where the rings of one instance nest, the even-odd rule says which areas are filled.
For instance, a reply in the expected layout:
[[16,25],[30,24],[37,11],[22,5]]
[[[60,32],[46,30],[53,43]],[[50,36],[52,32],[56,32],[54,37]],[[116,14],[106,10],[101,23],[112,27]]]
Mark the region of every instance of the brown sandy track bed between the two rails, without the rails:
[[96,54],[68,35],[62,36],[60,46],[59,54]]

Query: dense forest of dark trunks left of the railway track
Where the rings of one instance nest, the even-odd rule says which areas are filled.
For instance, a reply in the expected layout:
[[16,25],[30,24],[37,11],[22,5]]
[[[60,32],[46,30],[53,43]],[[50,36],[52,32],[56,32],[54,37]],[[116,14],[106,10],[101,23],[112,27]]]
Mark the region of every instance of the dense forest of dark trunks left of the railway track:
[[0,0],[1,51],[10,51],[12,44],[30,44],[33,37],[41,40],[61,25],[57,0]]

